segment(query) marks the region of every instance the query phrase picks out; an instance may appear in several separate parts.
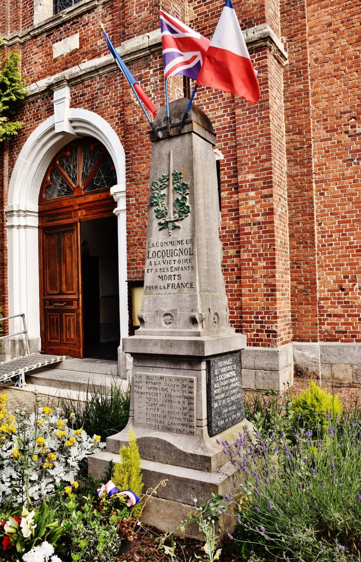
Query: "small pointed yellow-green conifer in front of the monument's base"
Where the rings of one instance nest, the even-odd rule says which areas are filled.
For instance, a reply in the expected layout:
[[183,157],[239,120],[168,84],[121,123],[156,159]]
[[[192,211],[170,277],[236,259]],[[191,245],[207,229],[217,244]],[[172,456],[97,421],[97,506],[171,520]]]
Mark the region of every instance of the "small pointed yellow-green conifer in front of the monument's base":
[[136,437],[131,428],[128,434],[129,447],[123,445],[120,450],[120,463],[115,465],[113,482],[120,492],[131,490],[140,497],[144,486],[140,468],[140,455],[138,445],[136,444]]

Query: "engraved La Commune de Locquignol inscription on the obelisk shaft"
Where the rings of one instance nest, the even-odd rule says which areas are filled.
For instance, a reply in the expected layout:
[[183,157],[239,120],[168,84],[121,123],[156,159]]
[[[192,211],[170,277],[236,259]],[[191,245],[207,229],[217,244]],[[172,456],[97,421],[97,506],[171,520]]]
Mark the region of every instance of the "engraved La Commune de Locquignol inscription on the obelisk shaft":
[[193,238],[148,242],[145,293],[195,292]]

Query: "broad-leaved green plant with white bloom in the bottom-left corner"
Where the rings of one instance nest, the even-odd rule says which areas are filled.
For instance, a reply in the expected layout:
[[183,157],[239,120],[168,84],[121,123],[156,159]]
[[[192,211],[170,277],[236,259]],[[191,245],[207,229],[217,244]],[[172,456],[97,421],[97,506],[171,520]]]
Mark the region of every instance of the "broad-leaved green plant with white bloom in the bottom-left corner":
[[63,527],[58,524],[58,520],[55,520],[55,516],[56,510],[49,510],[44,499],[40,509],[29,512],[25,506],[23,507],[22,526],[10,517],[8,522],[11,526],[7,528],[6,534],[17,552],[28,552],[33,546],[41,545],[43,541],[55,546],[63,533]]

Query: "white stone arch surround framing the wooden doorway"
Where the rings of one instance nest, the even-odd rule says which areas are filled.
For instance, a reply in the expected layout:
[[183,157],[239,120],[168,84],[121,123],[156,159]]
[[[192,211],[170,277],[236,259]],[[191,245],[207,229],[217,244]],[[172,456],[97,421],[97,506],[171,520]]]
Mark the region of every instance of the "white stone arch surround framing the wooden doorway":
[[[54,101],[56,93],[54,93]],[[79,137],[95,137],[100,140],[107,148],[116,168],[117,185],[111,188],[111,193],[117,202],[114,212],[118,217],[120,333],[121,338],[128,335],[124,149],[115,130],[103,117],[84,109],[69,109],[68,102],[65,102],[65,107],[61,108],[60,114],[56,111],[56,116],[53,115],[43,121],[22,147],[11,174],[8,205],[5,208],[9,315],[25,312],[31,351],[40,349],[38,249],[40,187],[56,153],[72,139]],[[17,331],[18,328],[20,323],[13,322],[11,329]]]

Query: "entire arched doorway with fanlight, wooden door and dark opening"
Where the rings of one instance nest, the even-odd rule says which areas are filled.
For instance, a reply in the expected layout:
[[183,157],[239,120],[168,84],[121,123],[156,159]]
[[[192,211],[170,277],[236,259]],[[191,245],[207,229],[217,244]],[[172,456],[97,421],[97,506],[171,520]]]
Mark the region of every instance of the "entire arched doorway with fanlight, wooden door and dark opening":
[[[39,194],[42,351],[105,359],[120,339],[112,157],[91,137],[68,143]],[[110,353],[110,351],[109,351]],[[105,356],[104,356],[105,354]],[[110,358],[110,355],[108,355]]]

